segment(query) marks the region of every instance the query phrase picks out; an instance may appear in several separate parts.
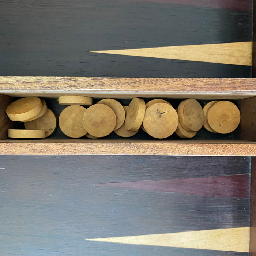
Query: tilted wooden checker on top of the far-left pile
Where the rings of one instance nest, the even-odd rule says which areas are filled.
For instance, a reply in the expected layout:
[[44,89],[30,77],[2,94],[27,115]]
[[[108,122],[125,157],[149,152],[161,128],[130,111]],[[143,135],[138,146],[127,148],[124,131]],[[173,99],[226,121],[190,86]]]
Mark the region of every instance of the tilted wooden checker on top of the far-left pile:
[[25,121],[37,116],[43,105],[38,97],[25,97],[12,102],[5,110],[12,121]]

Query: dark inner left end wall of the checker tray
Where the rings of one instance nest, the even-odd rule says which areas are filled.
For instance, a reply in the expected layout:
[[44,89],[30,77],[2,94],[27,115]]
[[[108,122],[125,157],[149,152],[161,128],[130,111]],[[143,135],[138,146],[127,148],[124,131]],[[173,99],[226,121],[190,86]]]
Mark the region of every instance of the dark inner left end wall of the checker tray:
[[7,139],[8,129],[14,127],[14,122],[8,118],[5,112],[5,109],[12,101],[12,97],[0,94],[0,140]]

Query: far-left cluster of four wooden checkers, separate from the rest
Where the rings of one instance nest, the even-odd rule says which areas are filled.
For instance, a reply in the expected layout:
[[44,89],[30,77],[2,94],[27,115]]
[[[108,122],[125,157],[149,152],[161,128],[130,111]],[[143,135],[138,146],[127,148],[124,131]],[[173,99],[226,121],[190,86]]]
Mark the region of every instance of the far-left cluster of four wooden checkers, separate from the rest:
[[25,129],[9,129],[10,138],[37,139],[50,136],[57,127],[57,118],[44,99],[25,97],[12,102],[6,109],[12,121],[24,122]]

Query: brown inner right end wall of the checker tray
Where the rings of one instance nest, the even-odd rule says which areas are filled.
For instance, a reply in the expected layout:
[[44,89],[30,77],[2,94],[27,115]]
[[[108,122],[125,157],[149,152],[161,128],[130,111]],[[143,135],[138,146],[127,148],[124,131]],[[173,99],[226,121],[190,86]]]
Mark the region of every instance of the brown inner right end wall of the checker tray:
[[238,101],[241,121],[237,131],[239,138],[256,141],[256,97]]

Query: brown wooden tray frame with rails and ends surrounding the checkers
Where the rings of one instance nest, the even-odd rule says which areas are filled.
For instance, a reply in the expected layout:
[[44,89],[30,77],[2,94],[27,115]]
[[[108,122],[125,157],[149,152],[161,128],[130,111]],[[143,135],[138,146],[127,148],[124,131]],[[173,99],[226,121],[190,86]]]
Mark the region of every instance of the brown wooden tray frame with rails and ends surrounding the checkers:
[[[256,155],[256,80],[237,78],[0,77],[2,155]],[[93,98],[238,100],[241,123],[234,140],[7,139],[12,97],[87,95]]]

